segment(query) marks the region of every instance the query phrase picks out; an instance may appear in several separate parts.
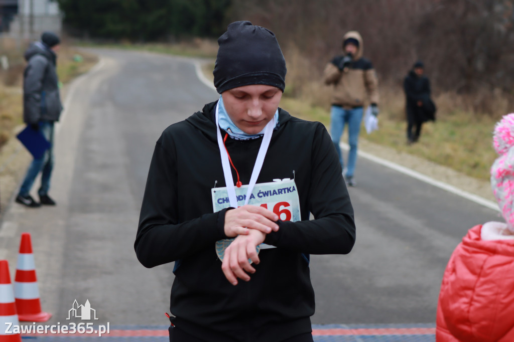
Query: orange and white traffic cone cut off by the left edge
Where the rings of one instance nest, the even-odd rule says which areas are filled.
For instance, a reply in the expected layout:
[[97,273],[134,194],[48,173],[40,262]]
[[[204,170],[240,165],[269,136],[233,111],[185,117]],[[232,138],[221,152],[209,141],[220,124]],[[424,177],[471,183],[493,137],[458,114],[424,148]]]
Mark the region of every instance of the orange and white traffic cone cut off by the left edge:
[[[9,328],[10,325],[10,328]],[[7,260],[0,260],[0,341],[21,342],[22,335],[6,334],[6,329],[13,332],[14,327],[20,329],[20,321],[16,315],[14,293],[12,291],[11,276]],[[19,330],[18,330],[19,331]]]

